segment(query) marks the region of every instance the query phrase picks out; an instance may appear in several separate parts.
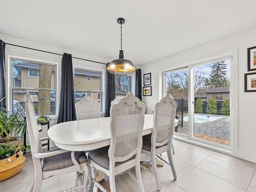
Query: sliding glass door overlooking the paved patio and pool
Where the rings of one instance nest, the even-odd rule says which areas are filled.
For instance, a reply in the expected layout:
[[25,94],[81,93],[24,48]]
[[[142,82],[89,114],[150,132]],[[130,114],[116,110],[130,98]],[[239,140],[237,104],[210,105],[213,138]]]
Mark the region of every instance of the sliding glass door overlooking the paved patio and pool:
[[217,59],[163,73],[163,95],[177,102],[176,135],[230,148],[230,62]]

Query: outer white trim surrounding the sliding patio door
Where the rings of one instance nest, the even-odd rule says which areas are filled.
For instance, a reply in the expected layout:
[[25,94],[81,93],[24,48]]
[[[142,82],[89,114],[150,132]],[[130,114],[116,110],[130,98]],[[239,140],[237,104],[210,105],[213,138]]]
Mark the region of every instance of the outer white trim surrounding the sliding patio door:
[[[159,99],[165,94],[165,82],[164,82],[164,75],[167,71],[172,71],[180,68],[188,67],[188,70],[191,71],[192,67],[200,66],[209,62],[215,62],[219,59],[230,59],[230,146],[224,146],[218,143],[199,140],[197,138],[189,138],[185,136],[181,136],[175,134],[175,137],[179,140],[186,141],[188,143],[196,142],[198,145],[202,145],[204,147],[212,149],[213,147],[218,148],[218,151],[221,151],[226,154],[233,154],[238,151],[238,48],[233,48],[230,50],[222,51],[219,53],[210,54],[207,56],[203,56],[200,58],[188,60],[185,62],[176,63],[172,67],[163,67],[159,70]],[[189,72],[191,74],[192,72]],[[189,77],[191,78],[191,77]],[[191,86],[190,86],[191,87]],[[192,89],[193,90],[193,89]],[[191,99],[192,97],[191,90],[189,90],[188,98]],[[189,106],[189,110],[194,110],[193,106]],[[190,112],[190,116],[193,113]],[[193,117],[190,117],[190,122],[193,122]],[[191,123],[190,123],[191,126]],[[189,127],[189,130],[190,127]],[[193,131],[193,130],[191,130]]]

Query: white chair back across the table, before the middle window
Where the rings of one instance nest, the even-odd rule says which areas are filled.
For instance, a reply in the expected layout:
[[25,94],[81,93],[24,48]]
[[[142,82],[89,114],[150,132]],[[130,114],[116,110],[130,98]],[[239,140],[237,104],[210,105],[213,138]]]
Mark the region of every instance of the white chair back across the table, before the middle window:
[[100,103],[88,96],[76,102],[76,119],[94,119],[99,118]]

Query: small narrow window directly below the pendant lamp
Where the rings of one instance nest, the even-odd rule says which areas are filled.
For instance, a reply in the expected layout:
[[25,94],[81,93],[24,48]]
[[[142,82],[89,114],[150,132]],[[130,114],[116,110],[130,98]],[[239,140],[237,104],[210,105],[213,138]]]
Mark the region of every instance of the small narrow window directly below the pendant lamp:
[[131,76],[117,76],[115,78],[116,97],[125,96],[131,92]]

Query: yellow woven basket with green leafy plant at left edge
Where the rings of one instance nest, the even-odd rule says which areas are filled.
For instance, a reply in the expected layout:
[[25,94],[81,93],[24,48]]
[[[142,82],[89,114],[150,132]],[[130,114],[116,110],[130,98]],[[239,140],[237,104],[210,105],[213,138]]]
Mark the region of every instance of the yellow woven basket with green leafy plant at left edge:
[[13,177],[22,169],[26,160],[23,151],[29,148],[30,146],[8,142],[0,145],[0,182]]

